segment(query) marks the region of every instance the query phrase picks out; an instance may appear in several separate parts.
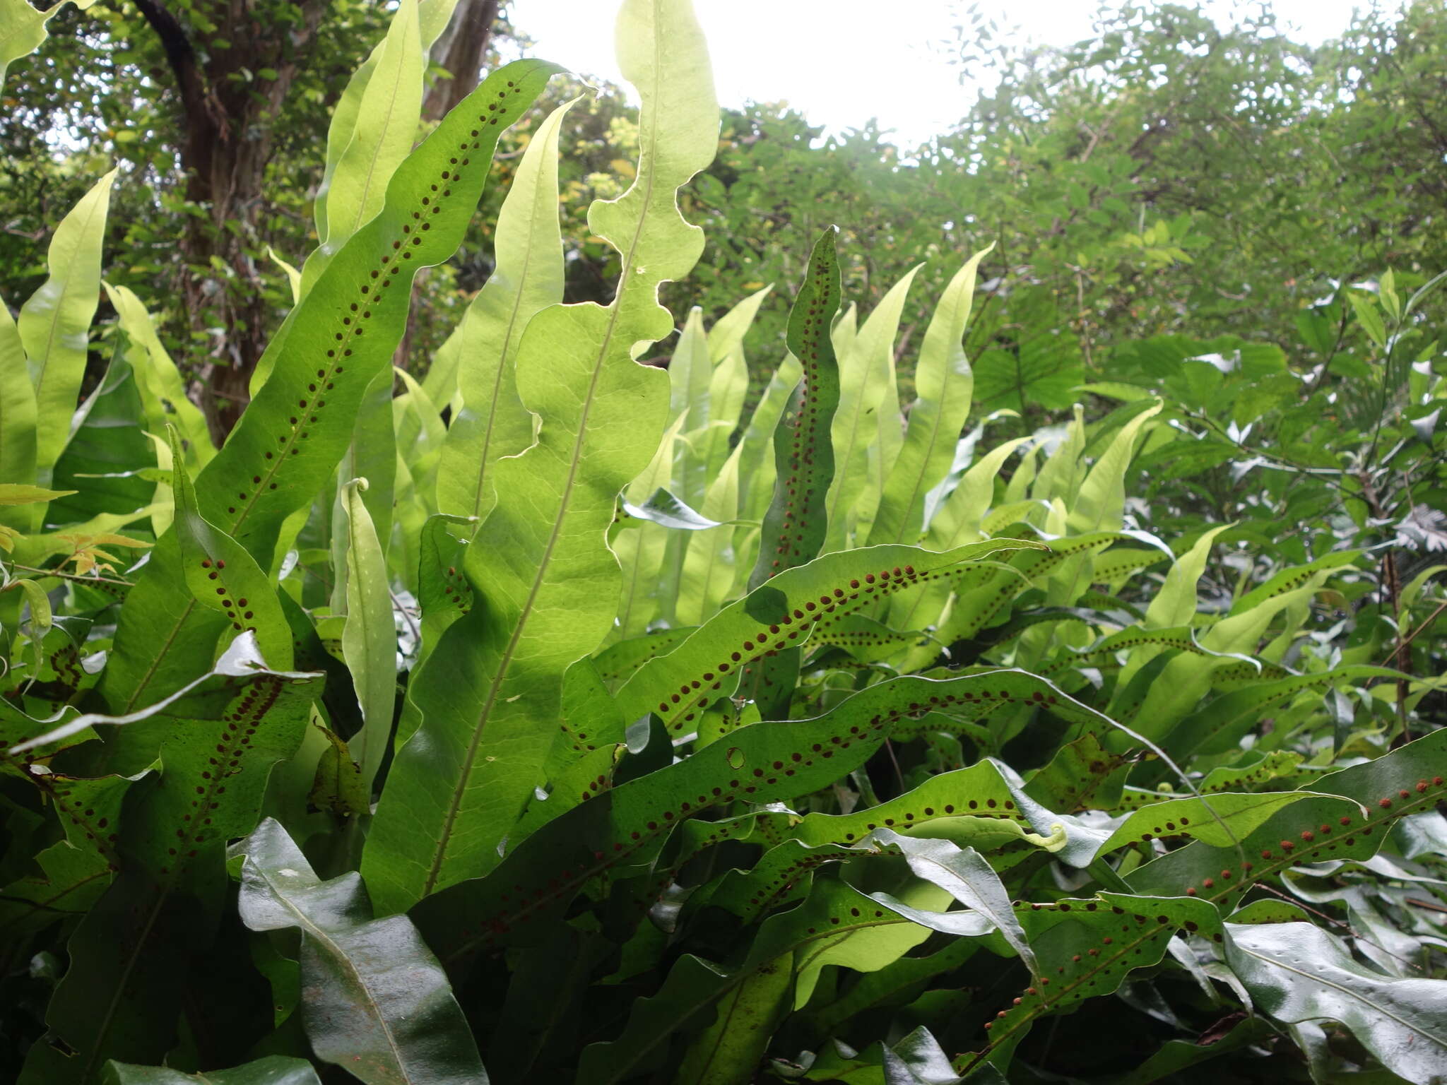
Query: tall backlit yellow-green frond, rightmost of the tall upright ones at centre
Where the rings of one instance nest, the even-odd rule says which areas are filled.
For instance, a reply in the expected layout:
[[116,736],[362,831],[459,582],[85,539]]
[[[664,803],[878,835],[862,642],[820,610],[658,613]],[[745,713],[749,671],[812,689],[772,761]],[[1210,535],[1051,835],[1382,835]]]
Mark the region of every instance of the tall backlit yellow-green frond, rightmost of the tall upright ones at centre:
[[870,528],[871,544],[917,540],[925,525],[925,495],[949,473],[974,391],[974,373],[964,349],[965,327],[980,260],[993,247],[981,249],[955,272],[930,317],[915,370],[919,399],[910,408],[904,444]]

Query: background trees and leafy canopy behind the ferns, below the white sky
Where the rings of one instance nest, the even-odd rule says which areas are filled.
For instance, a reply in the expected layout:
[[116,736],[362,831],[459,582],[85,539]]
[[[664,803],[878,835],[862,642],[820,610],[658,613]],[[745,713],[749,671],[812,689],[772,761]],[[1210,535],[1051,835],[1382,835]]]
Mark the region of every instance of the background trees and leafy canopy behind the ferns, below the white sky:
[[[473,0],[453,26],[491,25],[489,3]],[[204,378],[217,433],[289,305],[272,253],[295,260],[314,237],[315,148],[350,58],[386,22],[370,3],[273,7],[65,7],[51,48],[13,65],[4,88],[0,292],[39,284],[33,240],[97,163],[119,163],[107,244],[123,258],[110,273],[161,315],[184,372]],[[903,317],[907,366],[955,256],[993,242],[981,278],[997,289],[969,343],[972,356],[991,349],[977,402],[1040,417],[1066,408],[1074,385],[1103,379],[1120,343],[1150,334],[1236,334],[1310,369],[1324,359],[1298,337],[1304,310],[1385,268],[1415,286],[1447,266],[1447,236],[1434,229],[1447,213],[1441,3],[1373,6],[1320,48],[1292,42],[1269,10],[1223,30],[1188,6],[1106,6],[1098,33],[1069,49],[1022,45],[971,10],[961,19],[961,71],[998,81],[925,146],[893,146],[870,127],[822,137],[786,106],[728,111],[718,159],[684,194],[710,227],[709,260],[670,288],[670,304],[721,315],[774,282],[760,320],[777,331],[800,253],[839,223],[845,292],[864,311],[923,262]],[[519,48],[505,20],[462,45],[473,51],[464,72]],[[436,122],[459,81],[441,65],[430,78]],[[635,145],[631,111],[608,91],[566,124],[579,150],[564,163],[572,194],[606,192],[609,163]],[[505,140],[504,163],[524,142]],[[605,297],[603,247],[576,218],[564,237],[569,298]],[[399,365],[425,369],[459,292],[475,292],[491,266],[483,226],[425,288],[420,339],[404,343]],[[1354,333],[1343,340],[1333,344],[1351,352]]]

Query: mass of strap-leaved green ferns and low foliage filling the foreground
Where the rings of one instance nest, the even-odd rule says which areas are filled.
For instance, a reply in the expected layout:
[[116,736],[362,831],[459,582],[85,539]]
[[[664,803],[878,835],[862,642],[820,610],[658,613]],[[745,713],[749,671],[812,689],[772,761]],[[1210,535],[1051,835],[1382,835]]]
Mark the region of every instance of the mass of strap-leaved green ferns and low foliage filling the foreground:
[[556,72],[411,149],[450,10],[402,0],[336,110],[224,447],[101,282],[110,176],[3,310],[13,1076],[1441,1079],[1438,281],[1304,311],[1372,344],[1330,382],[1143,340],[996,440],[983,253],[904,402],[913,273],[857,312],[829,229],[747,408],[771,288],[635,360],[718,109],[687,1],[627,0],[612,302],[560,304],[563,106],[418,382],[411,279]]

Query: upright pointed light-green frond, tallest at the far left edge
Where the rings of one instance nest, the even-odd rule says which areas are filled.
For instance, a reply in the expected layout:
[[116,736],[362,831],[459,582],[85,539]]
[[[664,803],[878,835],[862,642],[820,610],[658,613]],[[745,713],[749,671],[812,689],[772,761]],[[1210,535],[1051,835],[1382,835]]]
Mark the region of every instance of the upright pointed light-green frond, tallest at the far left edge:
[[20,307],[36,405],[36,482],[45,485],[71,433],[71,415],[85,375],[91,318],[100,301],[101,244],[110,208],[110,171],[61,220],[46,253],[45,284]]

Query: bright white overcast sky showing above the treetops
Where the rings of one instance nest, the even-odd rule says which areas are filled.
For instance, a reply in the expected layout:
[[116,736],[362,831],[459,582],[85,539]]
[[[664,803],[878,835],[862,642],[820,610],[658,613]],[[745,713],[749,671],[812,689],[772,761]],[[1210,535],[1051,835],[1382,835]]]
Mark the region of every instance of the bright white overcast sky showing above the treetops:
[[[1360,3],[1362,0],[1356,0]],[[878,117],[913,146],[945,130],[974,100],[946,64],[956,39],[952,0],[693,0],[709,39],[724,106],[789,101],[831,132]],[[1229,19],[1231,0],[1207,0]],[[1353,0],[1275,0],[1278,19],[1317,43],[1338,36]],[[1046,45],[1090,33],[1094,0],[981,0],[1001,23]],[[535,56],[622,82],[614,62],[615,0],[514,0],[512,25],[537,42]],[[828,13],[828,20],[820,14]]]

